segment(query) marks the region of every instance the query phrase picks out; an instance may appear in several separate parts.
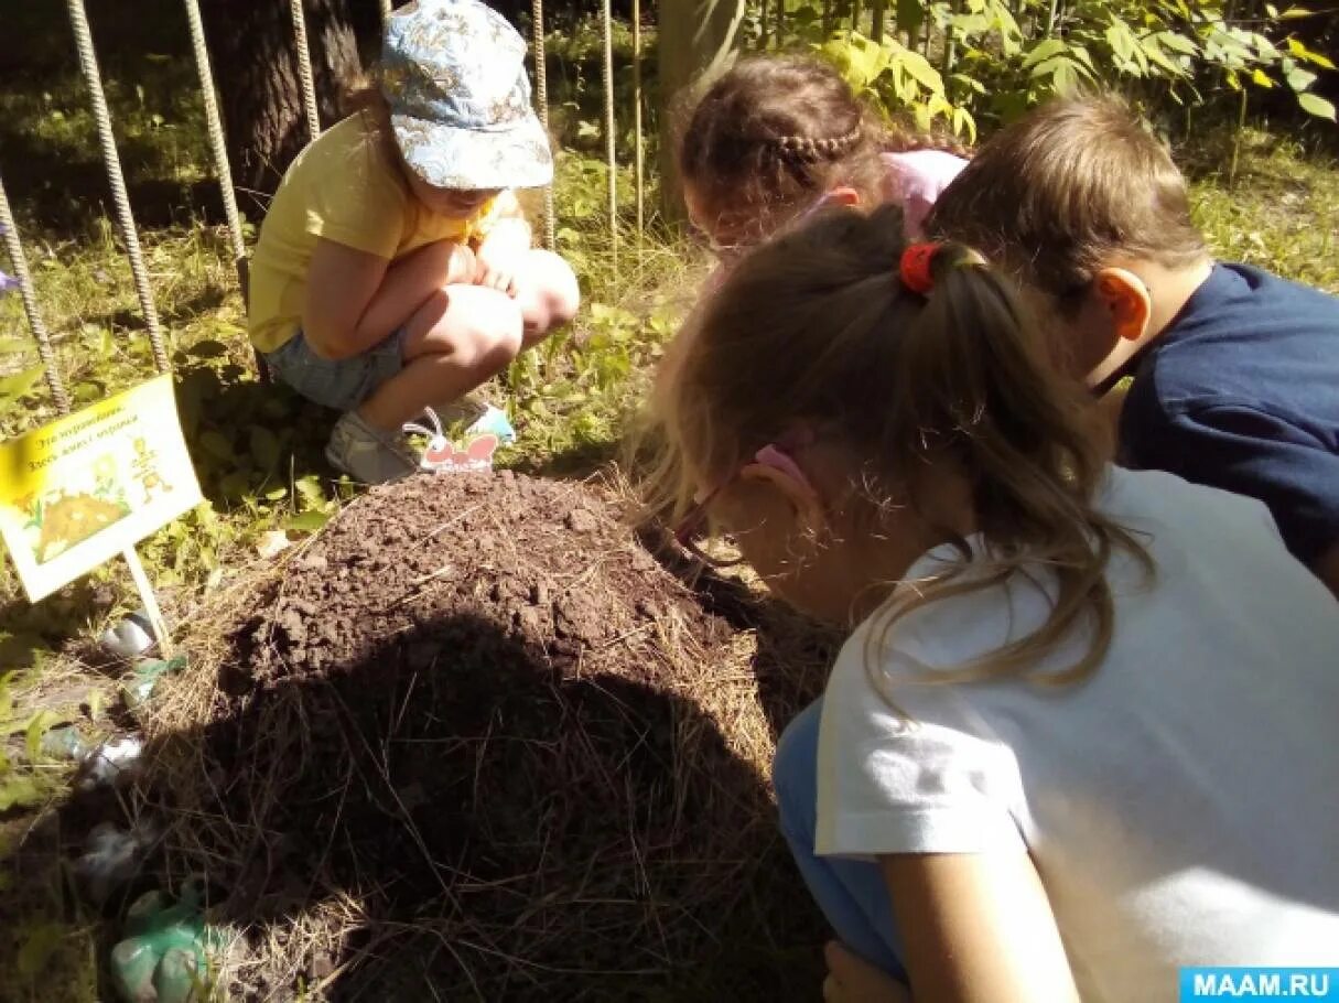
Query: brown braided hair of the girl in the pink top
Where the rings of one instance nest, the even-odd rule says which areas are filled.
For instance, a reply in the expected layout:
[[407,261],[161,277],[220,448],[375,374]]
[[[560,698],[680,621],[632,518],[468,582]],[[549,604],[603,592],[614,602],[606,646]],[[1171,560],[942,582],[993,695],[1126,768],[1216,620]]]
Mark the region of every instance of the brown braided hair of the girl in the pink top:
[[679,135],[679,171],[714,213],[794,206],[840,185],[884,201],[885,150],[945,149],[889,126],[841,74],[809,56],[743,59],[715,80]]

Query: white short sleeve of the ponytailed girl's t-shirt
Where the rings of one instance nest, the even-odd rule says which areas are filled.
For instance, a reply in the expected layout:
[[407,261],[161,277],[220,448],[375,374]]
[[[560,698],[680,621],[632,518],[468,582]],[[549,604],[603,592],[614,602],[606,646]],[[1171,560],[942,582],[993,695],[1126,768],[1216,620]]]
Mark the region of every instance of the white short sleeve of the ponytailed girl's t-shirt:
[[865,631],[842,648],[823,696],[818,739],[819,854],[987,853],[1026,848],[1014,809],[1022,779],[1012,750],[971,734],[952,686],[880,692]]

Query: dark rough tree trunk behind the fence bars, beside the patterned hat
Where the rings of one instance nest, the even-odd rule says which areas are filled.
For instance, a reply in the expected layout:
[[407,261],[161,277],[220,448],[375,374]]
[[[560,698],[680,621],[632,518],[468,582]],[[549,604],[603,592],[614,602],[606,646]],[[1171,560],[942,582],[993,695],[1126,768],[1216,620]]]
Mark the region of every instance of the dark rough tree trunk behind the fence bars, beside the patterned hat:
[[[362,72],[349,0],[304,0],[321,126],[339,118],[344,88]],[[303,112],[293,21],[287,3],[202,0],[238,205],[264,216],[284,170],[311,141]]]

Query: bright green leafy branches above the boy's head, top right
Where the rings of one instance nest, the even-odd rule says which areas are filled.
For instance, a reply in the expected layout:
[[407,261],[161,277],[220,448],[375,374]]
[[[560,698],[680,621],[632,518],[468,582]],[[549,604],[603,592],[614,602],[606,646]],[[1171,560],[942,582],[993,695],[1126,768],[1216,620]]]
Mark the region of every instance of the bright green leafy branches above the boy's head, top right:
[[[1241,4],[1245,7],[1245,4]],[[1285,87],[1335,119],[1312,91],[1334,70],[1289,33],[1311,16],[1265,4],[1229,19],[1224,0],[900,0],[888,24],[830,31],[811,5],[787,13],[786,46],[810,47],[889,112],[973,141],[983,117],[1008,121],[1055,94],[1111,86],[1144,100],[1200,103],[1229,88]],[[857,17],[857,21],[860,19]]]

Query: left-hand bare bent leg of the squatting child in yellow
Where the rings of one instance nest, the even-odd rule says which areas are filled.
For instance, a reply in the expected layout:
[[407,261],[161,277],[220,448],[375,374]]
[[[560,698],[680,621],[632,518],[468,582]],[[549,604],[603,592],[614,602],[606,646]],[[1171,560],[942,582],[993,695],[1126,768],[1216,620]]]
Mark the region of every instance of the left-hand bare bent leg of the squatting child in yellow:
[[442,400],[465,395],[505,368],[524,344],[521,307],[506,293],[449,285],[406,325],[404,368],[358,411],[374,429],[392,430]]

